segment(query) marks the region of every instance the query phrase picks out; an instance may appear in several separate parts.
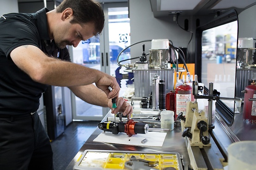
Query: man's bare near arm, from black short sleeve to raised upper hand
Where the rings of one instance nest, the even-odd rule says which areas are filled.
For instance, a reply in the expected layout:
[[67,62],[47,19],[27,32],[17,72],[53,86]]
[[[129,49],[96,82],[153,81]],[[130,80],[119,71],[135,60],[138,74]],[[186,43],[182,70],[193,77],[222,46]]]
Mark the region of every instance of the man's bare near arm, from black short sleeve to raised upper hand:
[[[120,87],[113,76],[96,69],[48,57],[36,46],[19,46],[12,50],[10,56],[18,68],[36,82],[67,87],[95,83],[107,94],[107,98],[119,96]],[[109,91],[109,87],[112,91]]]

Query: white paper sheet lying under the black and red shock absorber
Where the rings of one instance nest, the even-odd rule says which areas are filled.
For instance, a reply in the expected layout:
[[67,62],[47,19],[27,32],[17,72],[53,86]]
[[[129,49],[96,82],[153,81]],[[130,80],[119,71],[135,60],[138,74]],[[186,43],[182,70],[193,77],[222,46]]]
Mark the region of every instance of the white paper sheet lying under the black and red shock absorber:
[[[115,135],[112,132],[102,132],[93,141],[135,146],[162,147],[165,136],[166,133],[164,132],[148,132],[147,134],[136,134],[131,137],[126,135],[126,133]],[[143,139],[148,139],[148,141],[141,143]]]

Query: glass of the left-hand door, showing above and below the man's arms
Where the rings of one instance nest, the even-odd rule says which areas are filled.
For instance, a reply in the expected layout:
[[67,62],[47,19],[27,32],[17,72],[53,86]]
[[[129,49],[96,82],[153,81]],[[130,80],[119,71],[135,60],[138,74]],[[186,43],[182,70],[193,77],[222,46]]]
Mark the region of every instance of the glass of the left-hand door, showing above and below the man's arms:
[[[92,37],[89,40],[81,41],[76,48],[71,47],[69,51],[72,62],[105,72],[104,65],[101,65],[99,37]],[[107,108],[84,102],[73,93],[71,93],[71,102],[72,115],[75,120],[101,120],[103,111],[107,112]]]

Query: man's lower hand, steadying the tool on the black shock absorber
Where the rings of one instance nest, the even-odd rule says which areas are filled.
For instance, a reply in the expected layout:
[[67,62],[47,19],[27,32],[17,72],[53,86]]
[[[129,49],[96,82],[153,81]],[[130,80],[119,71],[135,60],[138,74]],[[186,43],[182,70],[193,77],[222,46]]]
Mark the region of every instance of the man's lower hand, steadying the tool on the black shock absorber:
[[[112,103],[112,102],[111,102]],[[131,113],[133,112],[133,108],[132,106],[125,101],[125,99],[123,97],[119,97],[117,98],[117,101],[116,101],[116,106],[117,108],[111,108],[111,113],[123,113],[123,115],[127,115],[127,118],[130,119],[131,118]]]

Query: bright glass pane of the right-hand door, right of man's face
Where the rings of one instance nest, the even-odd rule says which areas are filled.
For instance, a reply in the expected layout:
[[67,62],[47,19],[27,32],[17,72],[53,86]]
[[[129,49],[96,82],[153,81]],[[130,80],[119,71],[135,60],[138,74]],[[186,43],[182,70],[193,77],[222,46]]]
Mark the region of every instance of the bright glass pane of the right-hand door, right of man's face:
[[[127,3],[104,4],[104,9],[107,10],[108,14],[108,27],[105,30],[108,36],[105,39],[105,44],[109,45],[110,74],[115,76],[128,74],[125,72],[125,67],[119,69],[118,62],[123,60],[126,61],[121,62],[121,64],[131,62],[129,60],[131,58],[130,48],[123,51],[118,58],[119,53],[131,45],[130,18],[128,17],[127,5]],[[116,70],[119,71],[118,75],[116,75]],[[126,80],[121,80],[119,84],[121,86],[119,96],[123,96],[126,89]]]

